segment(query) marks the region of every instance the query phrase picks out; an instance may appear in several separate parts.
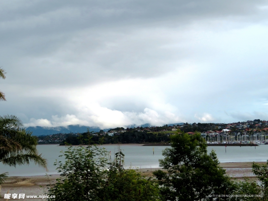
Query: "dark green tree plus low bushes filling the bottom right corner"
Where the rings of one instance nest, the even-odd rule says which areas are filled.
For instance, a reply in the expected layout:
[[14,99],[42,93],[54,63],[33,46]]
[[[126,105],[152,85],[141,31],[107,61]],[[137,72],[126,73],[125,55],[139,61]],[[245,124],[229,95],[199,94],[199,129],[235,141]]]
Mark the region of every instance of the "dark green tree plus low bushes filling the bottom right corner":
[[[159,160],[162,170],[155,171],[160,185],[161,200],[267,200],[268,162],[252,168],[261,181],[232,181],[219,166],[212,150],[207,154],[207,145],[200,134],[179,133],[172,135],[171,148],[163,151],[164,159]],[[262,195],[262,197],[221,197],[211,195]]]

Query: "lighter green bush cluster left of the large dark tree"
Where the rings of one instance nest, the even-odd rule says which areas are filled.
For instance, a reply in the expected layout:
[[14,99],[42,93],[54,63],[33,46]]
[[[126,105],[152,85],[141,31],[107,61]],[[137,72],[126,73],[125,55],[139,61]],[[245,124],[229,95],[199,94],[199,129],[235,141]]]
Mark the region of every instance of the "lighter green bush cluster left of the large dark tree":
[[65,162],[56,162],[61,178],[48,188],[49,201],[62,200],[158,200],[158,188],[151,178],[124,169],[119,149],[114,161],[98,146],[68,147],[62,152]]

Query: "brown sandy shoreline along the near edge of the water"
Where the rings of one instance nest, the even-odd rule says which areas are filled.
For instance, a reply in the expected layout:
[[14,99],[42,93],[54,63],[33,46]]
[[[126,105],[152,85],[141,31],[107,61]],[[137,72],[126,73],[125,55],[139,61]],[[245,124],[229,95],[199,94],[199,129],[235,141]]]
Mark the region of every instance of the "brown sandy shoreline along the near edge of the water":
[[[255,162],[258,164],[265,164],[266,162]],[[226,173],[231,176],[233,173],[249,173],[251,172],[251,165],[252,162],[227,162],[227,163],[220,163],[219,166],[226,169]],[[154,172],[155,170],[160,170],[162,168],[141,168],[141,169],[134,169],[137,172],[141,172],[143,176],[147,176]],[[246,174],[245,174],[246,175]],[[245,176],[247,178],[251,178],[252,176]],[[56,179],[59,178],[59,174],[54,174],[49,177],[50,181],[54,183]],[[244,178],[234,176],[232,178]],[[256,178],[253,176],[252,178]],[[48,184],[48,178],[47,176],[12,176],[8,177],[6,182],[2,184],[3,188],[13,188],[13,187],[23,187],[23,188],[29,188],[29,187],[45,187]]]

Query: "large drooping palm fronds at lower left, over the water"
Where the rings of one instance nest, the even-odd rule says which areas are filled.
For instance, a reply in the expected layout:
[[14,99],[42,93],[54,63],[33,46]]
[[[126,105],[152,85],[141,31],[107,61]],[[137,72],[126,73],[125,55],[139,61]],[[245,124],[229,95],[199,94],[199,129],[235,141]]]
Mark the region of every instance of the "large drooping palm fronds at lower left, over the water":
[[[0,116],[0,162],[13,167],[34,162],[47,170],[46,159],[36,149],[36,137],[21,126],[23,124],[16,116]],[[0,174],[0,185],[6,174]]]

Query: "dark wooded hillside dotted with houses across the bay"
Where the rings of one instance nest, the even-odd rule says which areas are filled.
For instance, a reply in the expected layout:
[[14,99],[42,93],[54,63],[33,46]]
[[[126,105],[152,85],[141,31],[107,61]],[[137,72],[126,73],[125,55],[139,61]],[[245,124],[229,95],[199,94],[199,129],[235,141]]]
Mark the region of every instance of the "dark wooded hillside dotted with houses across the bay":
[[[127,128],[118,127],[114,129],[106,129],[99,130],[99,128],[90,128],[89,132],[87,131],[86,126],[76,126],[70,127],[67,130],[68,132],[61,133],[56,131],[58,134],[53,135],[42,135],[39,136],[39,143],[59,143],[64,144],[65,142],[68,144],[86,144],[86,140],[88,136],[91,136],[92,143],[98,143],[101,139],[103,139],[103,143],[151,143],[151,142],[168,142],[170,133],[177,133],[177,131],[183,131],[188,134],[192,134],[195,131],[201,133],[215,133],[215,132],[235,132],[236,135],[240,133],[260,133],[267,135],[268,134],[268,121],[265,120],[254,120],[254,121],[246,121],[246,122],[236,122],[230,124],[222,124],[222,123],[193,123],[188,124],[187,122],[183,125],[174,124],[174,125],[164,125],[164,126],[148,126],[148,124],[144,124],[146,127],[138,126],[137,128]],[[65,128],[65,127],[64,127]],[[71,132],[72,129],[72,133]],[[79,129],[84,130],[81,132]],[[79,132],[82,134],[74,134],[73,132]],[[107,131],[107,132],[106,132]],[[70,134],[66,134],[70,133]],[[33,135],[36,135],[33,133]],[[80,139],[77,137],[80,136]]]

